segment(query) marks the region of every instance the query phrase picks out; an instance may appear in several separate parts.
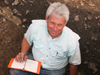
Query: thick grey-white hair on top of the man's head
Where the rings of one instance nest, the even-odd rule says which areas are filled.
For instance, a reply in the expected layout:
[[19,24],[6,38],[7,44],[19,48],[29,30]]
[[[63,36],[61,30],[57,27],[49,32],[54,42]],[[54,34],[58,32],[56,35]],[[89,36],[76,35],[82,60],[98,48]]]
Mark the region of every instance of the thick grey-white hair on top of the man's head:
[[65,4],[62,4],[60,2],[54,2],[50,4],[46,11],[46,17],[49,18],[50,14],[54,13],[58,16],[65,17],[66,22],[69,20],[69,9]]

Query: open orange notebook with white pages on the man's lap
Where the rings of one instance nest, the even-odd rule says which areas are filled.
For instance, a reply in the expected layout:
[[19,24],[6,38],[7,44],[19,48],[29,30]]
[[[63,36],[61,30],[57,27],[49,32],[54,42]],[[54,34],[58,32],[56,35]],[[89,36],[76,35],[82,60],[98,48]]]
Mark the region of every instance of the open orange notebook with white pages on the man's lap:
[[39,74],[41,69],[41,62],[31,59],[27,59],[26,61],[23,62],[17,62],[14,58],[11,58],[8,64],[8,68]]

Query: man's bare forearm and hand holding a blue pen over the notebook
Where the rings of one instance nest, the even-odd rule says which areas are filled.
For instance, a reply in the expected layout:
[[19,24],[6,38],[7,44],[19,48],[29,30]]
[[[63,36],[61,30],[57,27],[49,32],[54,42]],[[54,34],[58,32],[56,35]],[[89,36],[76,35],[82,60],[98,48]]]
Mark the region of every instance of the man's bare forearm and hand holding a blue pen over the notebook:
[[22,62],[23,60],[26,60],[28,58],[27,55],[26,56],[23,55],[27,53],[29,48],[30,48],[30,44],[27,42],[27,40],[24,37],[21,44],[21,52],[15,57],[15,60],[18,62]]

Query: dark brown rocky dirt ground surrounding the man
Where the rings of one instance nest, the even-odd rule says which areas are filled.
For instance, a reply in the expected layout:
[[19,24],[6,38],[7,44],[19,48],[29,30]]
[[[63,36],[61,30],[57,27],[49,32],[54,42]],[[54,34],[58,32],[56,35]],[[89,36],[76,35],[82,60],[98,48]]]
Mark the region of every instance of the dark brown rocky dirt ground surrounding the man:
[[77,75],[100,75],[100,0],[0,0],[0,75],[10,75],[7,65],[20,52],[31,20],[45,19],[47,7],[55,1],[68,6],[67,26],[81,37],[82,63]]

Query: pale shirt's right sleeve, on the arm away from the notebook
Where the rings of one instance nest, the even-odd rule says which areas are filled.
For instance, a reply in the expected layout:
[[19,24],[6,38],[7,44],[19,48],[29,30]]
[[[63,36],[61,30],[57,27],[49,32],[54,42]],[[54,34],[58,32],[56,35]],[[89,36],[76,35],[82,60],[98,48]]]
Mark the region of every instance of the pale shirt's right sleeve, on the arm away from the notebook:
[[69,63],[73,65],[79,65],[81,64],[81,54],[80,54],[80,48],[79,48],[79,42],[76,41],[76,43],[72,46],[70,46],[70,51],[68,53],[69,56]]

